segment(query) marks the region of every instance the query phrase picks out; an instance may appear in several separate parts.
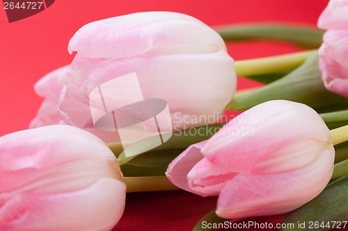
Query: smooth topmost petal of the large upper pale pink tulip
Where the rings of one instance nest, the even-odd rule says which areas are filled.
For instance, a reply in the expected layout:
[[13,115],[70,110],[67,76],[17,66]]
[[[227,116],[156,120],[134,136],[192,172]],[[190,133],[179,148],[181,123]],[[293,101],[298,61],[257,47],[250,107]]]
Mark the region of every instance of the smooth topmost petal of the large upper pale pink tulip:
[[75,33],[68,46],[70,53],[89,58],[132,57],[168,49],[207,53],[226,46],[212,28],[177,12],[136,12],[91,22]]

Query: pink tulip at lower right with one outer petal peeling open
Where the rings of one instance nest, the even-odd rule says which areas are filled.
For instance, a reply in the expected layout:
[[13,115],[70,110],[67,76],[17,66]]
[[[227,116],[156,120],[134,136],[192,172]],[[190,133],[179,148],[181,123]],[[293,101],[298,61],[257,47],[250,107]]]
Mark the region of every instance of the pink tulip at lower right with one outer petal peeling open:
[[308,106],[269,101],[189,146],[166,174],[187,191],[219,195],[216,214],[226,219],[290,212],[329,182],[335,156],[330,137]]

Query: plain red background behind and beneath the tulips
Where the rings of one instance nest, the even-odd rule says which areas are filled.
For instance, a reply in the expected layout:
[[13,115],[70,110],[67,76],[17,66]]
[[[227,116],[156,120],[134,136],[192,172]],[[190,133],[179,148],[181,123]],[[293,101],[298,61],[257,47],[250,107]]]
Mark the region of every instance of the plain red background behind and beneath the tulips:
[[[196,17],[209,26],[245,22],[299,22],[315,26],[327,0],[57,0],[47,10],[19,22],[8,23],[0,8],[0,135],[26,129],[42,101],[34,83],[71,62],[70,37],[84,24],[98,19],[148,10],[169,10]],[[281,42],[231,44],[235,60],[298,51]],[[253,83],[239,81],[238,88]],[[186,192],[129,194],[117,230],[191,230],[216,198],[200,198]],[[105,214],[107,216],[107,214]],[[257,218],[280,221],[283,216]]]

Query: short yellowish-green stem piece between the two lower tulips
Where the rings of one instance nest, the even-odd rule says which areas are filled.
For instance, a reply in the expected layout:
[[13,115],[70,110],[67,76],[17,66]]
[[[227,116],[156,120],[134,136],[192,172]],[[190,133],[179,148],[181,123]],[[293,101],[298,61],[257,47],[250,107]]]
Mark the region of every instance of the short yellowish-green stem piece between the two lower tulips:
[[166,176],[124,177],[127,192],[177,190]]

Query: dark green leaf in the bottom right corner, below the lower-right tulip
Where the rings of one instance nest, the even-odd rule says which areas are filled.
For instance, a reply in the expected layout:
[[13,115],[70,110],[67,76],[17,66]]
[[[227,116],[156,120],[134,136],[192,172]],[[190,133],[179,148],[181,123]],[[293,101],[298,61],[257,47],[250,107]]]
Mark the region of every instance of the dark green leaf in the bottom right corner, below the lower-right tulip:
[[290,212],[284,224],[293,223],[293,228],[281,231],[296,230],[333,230],[348,228],[348,176],[332,182],[319,196],[310,200],[299,209]]

